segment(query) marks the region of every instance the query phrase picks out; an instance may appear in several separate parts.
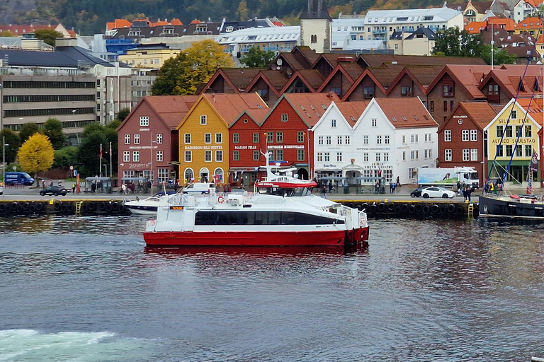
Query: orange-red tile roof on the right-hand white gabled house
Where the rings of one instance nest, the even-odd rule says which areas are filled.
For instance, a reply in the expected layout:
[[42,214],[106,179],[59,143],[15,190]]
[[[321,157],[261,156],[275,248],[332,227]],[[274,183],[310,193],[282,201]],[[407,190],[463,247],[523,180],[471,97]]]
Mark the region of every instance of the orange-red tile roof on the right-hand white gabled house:
[[374,100],[395,128],[438,127],[419,98],[374,98]]

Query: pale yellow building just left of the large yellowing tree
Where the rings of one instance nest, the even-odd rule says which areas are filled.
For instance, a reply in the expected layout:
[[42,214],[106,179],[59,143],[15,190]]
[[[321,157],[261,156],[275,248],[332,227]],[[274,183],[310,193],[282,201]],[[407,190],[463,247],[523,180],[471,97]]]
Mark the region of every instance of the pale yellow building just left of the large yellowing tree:
[[138,45],[128,49],[126,55],[120,55],[119,62],[136,68],[160,68],[167,59],[176,57],[179,52],[180,49],[173,49],[163,43]]

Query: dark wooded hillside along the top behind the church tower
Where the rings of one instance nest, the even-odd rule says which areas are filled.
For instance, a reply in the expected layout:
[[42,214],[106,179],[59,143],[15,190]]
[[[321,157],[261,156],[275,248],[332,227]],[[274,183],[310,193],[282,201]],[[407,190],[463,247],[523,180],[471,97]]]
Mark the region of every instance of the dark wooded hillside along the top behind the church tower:
[[[18,6],[10,6],[17,2]],[[369,8],[419,8],[441,6],[443,0],[323,0],[333,18],[339,13],[361,13]],[[24,5],[24,6],[22,6]],[[307,0],[6,0],[0,4],[0,23],[54,24],[74,28],[80,35],[103,33],[116,18],[179,18],[183,23],[247,20],[276,16],[290,25],[299,23]],[[10,11],[8,11],[8,9]]]

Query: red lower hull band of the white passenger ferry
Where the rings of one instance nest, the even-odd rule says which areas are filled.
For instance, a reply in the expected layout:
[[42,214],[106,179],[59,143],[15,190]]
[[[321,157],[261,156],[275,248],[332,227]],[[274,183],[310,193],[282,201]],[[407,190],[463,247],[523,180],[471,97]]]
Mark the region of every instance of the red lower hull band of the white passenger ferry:
[[[368,235],[367,230],[362,230]],[[145,232],[147,245],[155,246],[293,246],[293,245],[344,245],[344,230],[330,231],[159,231]],[[364,240],[364,239],[363,239]]]

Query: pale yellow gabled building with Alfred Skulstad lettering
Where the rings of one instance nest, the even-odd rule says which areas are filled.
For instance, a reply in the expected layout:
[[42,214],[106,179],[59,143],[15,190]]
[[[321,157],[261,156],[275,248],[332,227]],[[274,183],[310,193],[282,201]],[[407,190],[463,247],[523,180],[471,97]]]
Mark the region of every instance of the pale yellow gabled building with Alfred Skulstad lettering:
[[542,128],[542,115],[542,98],[523,98],[517,102],[512,99],[499,111],[484,129],[487,132],[486,177],[489,170],[491,177],[502,177],[510,163],[506,181],[527,181],[533,151],[540,154],[538,131]]

